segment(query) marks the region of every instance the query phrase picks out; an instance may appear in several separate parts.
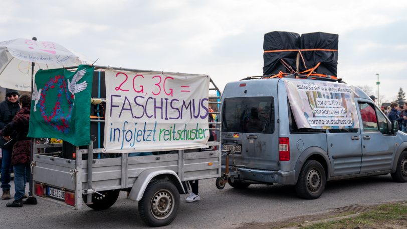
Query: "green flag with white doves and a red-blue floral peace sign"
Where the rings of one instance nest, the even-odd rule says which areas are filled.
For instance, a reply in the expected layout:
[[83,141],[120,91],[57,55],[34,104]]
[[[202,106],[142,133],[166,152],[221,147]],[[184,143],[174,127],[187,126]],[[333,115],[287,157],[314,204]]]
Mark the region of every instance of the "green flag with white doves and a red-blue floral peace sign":
[[76,72],[63,68],[37,72],[28,137],[89,145],[93,70],[80,65]]

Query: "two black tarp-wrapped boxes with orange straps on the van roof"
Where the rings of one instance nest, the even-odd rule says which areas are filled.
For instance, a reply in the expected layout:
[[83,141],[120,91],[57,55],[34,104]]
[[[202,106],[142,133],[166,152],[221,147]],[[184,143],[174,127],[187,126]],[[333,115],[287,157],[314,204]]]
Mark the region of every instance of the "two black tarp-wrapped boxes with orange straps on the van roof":
[[[316,73],[337,76],[338,35],[322,32],[302,34],[274,31],[264,35],[263,75],[275,75],[280,71],[289,72],[280,60],[286,62],[294,71],[303,72],[314,68]],[[299,69],[296,61],[301,50]],[[304,62],[305,64],[304,64]]]

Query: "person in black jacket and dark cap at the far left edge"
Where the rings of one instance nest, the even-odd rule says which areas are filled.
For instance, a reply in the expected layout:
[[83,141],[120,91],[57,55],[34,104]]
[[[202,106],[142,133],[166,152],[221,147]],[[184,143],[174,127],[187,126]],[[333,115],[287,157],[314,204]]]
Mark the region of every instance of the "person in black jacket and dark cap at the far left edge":
[[[19,92],[6,89],[6,100],[0,103],[0,130],[2,130],[20,110],[18,103]],[[12,138],[14,134],[10,134]],[[8,142],[8,143],[7,143]],[[12,149],[14,140],[10,141],[0,137],[0,147],[2,148],[2,178],[1,188],[3,190],[2,199],[10,199],[10,168],[12,163]],[[7,143],[7,144],[6,144]],[[6,145],[5,145],[6,144]]]

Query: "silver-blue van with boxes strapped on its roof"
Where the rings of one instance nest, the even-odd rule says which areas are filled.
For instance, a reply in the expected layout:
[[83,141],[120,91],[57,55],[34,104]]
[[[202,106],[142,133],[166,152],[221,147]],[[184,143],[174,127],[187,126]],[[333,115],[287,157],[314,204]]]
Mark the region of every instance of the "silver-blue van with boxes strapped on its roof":
[[329,180],[391,173],[394,181],[407,181],[407,135],[397,122],[357,87],[296,78],[249,77],[226,85],[225,183],[291,184],[300,197],[315,199]]

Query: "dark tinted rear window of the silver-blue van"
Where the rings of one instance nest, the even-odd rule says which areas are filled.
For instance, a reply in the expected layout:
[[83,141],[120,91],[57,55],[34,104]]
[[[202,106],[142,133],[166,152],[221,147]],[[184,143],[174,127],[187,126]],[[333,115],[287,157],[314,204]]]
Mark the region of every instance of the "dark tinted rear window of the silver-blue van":
[[273,97],[227,98],[223,102],[222,131],[273,133]]

